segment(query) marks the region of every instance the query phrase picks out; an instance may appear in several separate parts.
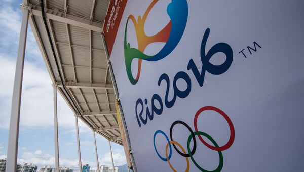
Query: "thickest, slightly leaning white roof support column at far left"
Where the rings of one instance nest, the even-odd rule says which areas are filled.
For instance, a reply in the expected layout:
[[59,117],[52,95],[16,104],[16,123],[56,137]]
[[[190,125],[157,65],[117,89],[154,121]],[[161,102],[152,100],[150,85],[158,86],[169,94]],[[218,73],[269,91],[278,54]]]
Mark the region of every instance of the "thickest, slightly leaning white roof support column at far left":
[[6,171],[17,171],[20,104],[29,10],[23,9],[14,79]]

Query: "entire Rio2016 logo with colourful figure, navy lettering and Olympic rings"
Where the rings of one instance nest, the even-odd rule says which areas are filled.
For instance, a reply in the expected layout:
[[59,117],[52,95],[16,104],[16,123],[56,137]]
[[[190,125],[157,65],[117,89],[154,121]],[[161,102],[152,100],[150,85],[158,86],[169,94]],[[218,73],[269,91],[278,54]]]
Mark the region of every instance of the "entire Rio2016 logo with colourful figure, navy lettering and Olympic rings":
[[[139,76],[140,76],[140,70],[141,70],[141,61],[146,60],[146,61],[158,61],[163,58],[165,58],[167,55],[169,55],[177,46],[179,43],[183,32],[185,30],[185,26],[187,23],[187,17],[188,17],[188,4],[186,0],[172,0],[172,2],[168,5],[167,7],[167,13],[171,19],[171,21],[156,35],[154,36],[147,36],[144,32],[144,24],[145,20],[150,12],[150,10],[155,6],[155,4],[158,2],[158,0],[153,0],[153,2],[149,5],[147,8],[146,12],[144,13],[143,17],[139,16],[138,20],[136,21],[135,17],[133,15],[130,15],[128,17],[127,23],[126,23],[126,28],[125,28],[125,38],[124,38],[124,53],[125,53],[125,64],[126,64],[126,70],[127,70],[127,75],[128,78],[131,82],[131,84],[135,85],[138,82]],[[130,43],[127,43],[127,26],[128,22],[131,20],[134,24],[135,27],[135,32],[137,36],[137,44],[138,44],[138,49],[136,48],[131,48]],[[141,128],[145,125],[148,125],[148,121],[152,121],[156,115],[160,116],[163,113],[163,110],[165,108],[170,109],[174,107],[177,101],[180,101],[178,99],[186,99],[189,94],[191,94],[191,90],[193,88],[193,84],[198,84],[200,87],[203,87],[204,82],[205,82],[205,74],[206,72],[213,74],[213,75],[221,75],[225,73],[231,66],[232,61],[233,61],[233,50],[230,47],[229,44],[227,43],[217,43],[213,45],[209,50],[206,50],[206,44],[208,41],[208,37],[210,34],[210,28],[206,28],[205,33],[203,35],[203,39],[201,42],[201,48],[200,48],[200,56],[201,56],[201,61],[194,61],[192,58],[189,59],[189,62],[187,66],[185,67],[184,70],[181,70],[175,74],[175,76],[172,78],[169,77],[168,74],[163,73],[160,75],[159,80],[158,80],[158,86],[161,87],[164,83],[166,85],[166,92],[165,96],[160,96],[159,94],[153,94],[150,96],[150,98],[138,98],[136,103],[135,103],[135,117],[138,123],[138,127]],[[146,55],[144,54],[145,48],[155,42],[164,42],[165,45],[164,47],[155,55]],[[220,65],[214,65],[210,62],[210,59],[213,57],[214,54],[221,53],[225,55],[226,59],[222,64]],[[134,78],[132,75],[131,71],[131,64],[132,60],[137,58],[138,59],[138,68],[137,68],[137,76]],[[200,63],[200,64],[198,64]],[[192,71],[187,72],[187,71]],[[192,77],[191,77],[192,75]],[[186,89],[180,90],[179,87],[177,86],[178,80],[183,80],[186,84]],[[172,90],[170,87],[170,81],[173,83],[173,96],[169,98],[169,90]],[[148,103],[150,102],[150,103]],[[156,106],[156,105],[160,106]],[[220,115],[222,115],[227,123],[229,124],[230,127],[230,139],[229,141],[223,145],[223,146],[218,146],[218,144],[215,142],[214,139],[210,135],[208,135],[205,132],[198,131],[197,128],[197,118],[199,114],[205,110],[212,110]],[[190,132],[191,135],[189,135],[188,140],[187,140],[187,151],[175,140],[172,138],[172,129],[176,124],[182,124],[184,125]],[[231,147],[231,145],[234,142],[235,138],[235,131],[234,131],[234,126],[230,118],[220,109],[212,106],[206,106],[201,109],[199,109],[194,117],[194,127],[195,127],[195,132],[187,125],[185,122],[177,120],[173,122],[170,128],[170,140],[169,137],[162,131],[162,130],[157,130],[154,134],[153,137],[153,143],[154,143],[154,148],[156,151],[156,154],[159,156],[159,158],[163,161],[168,162],[169,166],[173,171],[176,171],[173,166],[170,163],[170,158],[172,155],[172,148],[171,144],[173,145],[174,149],[183,157],[186,158],[187,161],[187,167],[186,171],[189,171],[189,159],[188,157],[191,158],[195,166],[200,169],[201,171],[207,171],[203,169],[198,163],[195,161],[193,155],[196,152],[196,137],[199,138],[199,140],[207,146],[209,149],[217,151],[219,155],[219,165],[214,171],[220,171],[223,167],[223,156],[222,152],[228,148]],[[157,134],[162,134],[166,137],[166,140],[168,141],[166,145],[166,157],[161,156],[156,148],[156,135]],[[207,138],[212,144],[208,144],[206,141],[203,140],[203,137]],[[194,146],[193,149],[190,149],[190,143],[191,140],[193,140]],[[178,146],[180,150],[176,148]],[[168,148],[170,148],[170,153],[168,155]]]

